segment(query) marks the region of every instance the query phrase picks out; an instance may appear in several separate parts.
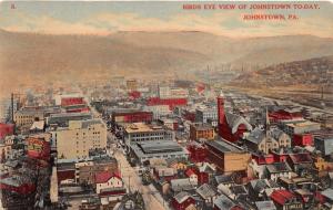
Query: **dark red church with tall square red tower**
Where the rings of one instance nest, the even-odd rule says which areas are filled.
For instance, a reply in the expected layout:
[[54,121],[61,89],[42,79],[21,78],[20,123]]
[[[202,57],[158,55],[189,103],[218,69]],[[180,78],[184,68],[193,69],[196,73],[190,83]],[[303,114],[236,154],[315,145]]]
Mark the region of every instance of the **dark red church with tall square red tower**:
[[245,132],[252,130],[252,126],[244,117],[224,111],[222,96],[218,97],[218,118],[219,135],[228,141],[238,141]]

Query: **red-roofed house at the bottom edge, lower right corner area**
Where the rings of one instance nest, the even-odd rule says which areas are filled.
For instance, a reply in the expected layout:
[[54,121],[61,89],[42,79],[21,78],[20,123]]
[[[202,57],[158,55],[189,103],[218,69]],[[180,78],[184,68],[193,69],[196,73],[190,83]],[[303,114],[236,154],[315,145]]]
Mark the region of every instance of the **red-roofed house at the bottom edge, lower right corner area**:
[[296,196],[289,190],[274,190],[271,195],[271,199],[276,206],[278,210],[302,210],[303,206],[296,198]]

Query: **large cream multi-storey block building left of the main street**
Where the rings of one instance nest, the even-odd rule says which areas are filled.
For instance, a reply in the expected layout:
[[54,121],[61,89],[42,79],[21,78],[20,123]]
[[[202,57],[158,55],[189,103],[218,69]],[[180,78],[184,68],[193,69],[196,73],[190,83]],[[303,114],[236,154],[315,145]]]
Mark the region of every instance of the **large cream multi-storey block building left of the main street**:
[[90,149],[107,147],[107,125],[102,119],[71,120],[69,127],[53,133],[58,158],[89,157]]

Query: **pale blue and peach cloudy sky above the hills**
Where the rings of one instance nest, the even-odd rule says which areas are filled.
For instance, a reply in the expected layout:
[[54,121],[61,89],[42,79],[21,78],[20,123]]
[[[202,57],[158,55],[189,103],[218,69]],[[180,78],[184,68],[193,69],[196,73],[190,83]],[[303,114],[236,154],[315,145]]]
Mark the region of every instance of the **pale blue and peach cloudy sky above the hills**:
[[[294,34],[333,38],[331,2],[320,2],[319,10],[183,10],[184,3],[192,2],[4,1],[0,2],[0,29],[48,34],[104,35],[117,31],[204,31],[235,38]],[[201,1],[201,4],[204,3],[209,2]],[[254,2],[246,3],[249,7]],[[292,13],[299,19],[242,19],[243,14],[251,13]]]

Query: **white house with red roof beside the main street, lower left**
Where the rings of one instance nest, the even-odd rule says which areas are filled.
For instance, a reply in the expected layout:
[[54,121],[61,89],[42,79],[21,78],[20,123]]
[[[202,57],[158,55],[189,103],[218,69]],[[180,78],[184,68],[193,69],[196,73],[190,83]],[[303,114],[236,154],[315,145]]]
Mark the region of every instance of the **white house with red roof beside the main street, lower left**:
[[109,188],[123,188],[123,182],[118,172],[101,171],[95,174],[95,192],[101,193]]

